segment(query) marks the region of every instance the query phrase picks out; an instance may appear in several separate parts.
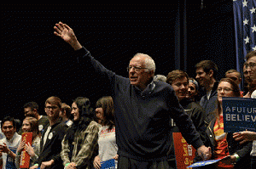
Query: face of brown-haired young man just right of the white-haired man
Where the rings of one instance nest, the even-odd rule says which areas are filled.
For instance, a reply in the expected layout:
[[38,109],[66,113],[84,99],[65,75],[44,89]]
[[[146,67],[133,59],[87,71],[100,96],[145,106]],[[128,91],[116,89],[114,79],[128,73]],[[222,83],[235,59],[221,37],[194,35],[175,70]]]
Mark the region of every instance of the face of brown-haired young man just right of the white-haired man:
[[176,79],[172,82],[172,88],[175,91],[177,99],[180,101],[185,99],[188,93],[188,79],[187,77],[183,77],[180,79]]

